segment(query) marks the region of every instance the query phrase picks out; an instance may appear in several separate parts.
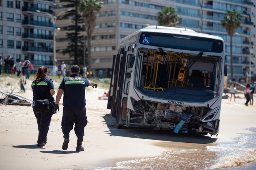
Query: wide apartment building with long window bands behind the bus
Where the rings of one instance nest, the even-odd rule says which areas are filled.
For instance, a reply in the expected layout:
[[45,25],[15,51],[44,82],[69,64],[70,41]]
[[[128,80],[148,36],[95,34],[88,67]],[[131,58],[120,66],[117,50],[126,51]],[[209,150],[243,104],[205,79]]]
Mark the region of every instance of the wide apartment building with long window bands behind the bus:
[[[176,8],[181,17],[177,27],[221,36],[225,40],[228,66],[230,37],[221,26],[221,20],[227,10],[236,9],[242,15],[242,23],[235,31],[238,34],[233,37],[234,78],[238,80],[249,71],[249,39],[251,48],[256,42],[256,4],[253,0],[105,0],[104,3],[101,12],[97,13],[92,42],[92,67],[95,72],[103,70],[103,73],[109,75],[112,55],[117,53],[120,39],[147,25],[158,25],[157,12],[165,6]],[[253,64],[256,62],[255,54],[251,54],[251,61],[253,74],[256,74]]]

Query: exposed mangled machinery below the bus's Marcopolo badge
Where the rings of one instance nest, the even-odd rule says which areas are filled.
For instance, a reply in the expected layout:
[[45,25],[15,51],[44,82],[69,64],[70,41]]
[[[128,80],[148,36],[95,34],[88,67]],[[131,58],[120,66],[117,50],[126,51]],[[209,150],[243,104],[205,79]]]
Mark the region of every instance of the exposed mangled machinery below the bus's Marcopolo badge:
[[128,111],[128,126],[132,124],[132,126],[138,125],[138,127],[152,127],[155,130],[173,131],[177,128],[177,124],[183,122],[182,127],[178,129],[182,133],[200,135],[207,133],[215,135],[217,133],[219,120],[201,121],[211,111],[209,107],[191,107],[134,99],[132,99],[132,103],[135,111]]

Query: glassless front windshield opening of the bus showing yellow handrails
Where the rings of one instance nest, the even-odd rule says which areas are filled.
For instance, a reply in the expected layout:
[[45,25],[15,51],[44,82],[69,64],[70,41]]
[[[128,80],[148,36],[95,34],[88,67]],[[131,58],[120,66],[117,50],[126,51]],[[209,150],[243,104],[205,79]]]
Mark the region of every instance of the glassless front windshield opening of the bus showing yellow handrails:
[[136,87],[162,99],[205,102],[218,94],[219,56],[139,49]]

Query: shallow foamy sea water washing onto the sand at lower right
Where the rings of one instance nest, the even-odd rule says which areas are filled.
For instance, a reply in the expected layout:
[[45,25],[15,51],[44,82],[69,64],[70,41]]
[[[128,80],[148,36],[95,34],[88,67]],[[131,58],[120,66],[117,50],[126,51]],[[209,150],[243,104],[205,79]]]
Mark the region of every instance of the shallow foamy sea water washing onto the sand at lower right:
[[207,146],[206,149],[167,151],[159,157],[128,160],[100,170],[206,170],[256,169],[256,128],[241,134],[236,143]]

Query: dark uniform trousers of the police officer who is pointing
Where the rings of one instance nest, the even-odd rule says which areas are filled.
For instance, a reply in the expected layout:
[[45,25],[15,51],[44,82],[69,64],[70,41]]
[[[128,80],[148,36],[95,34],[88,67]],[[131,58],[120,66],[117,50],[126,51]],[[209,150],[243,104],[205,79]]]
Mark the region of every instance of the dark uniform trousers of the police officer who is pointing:
[[61,121],[62,133],[69,137],[69,132],[73,129],[75,123],[76,137],[84,136],[84,127],[87,125],[87,116],[85,106],[64,106],[63,116]]

